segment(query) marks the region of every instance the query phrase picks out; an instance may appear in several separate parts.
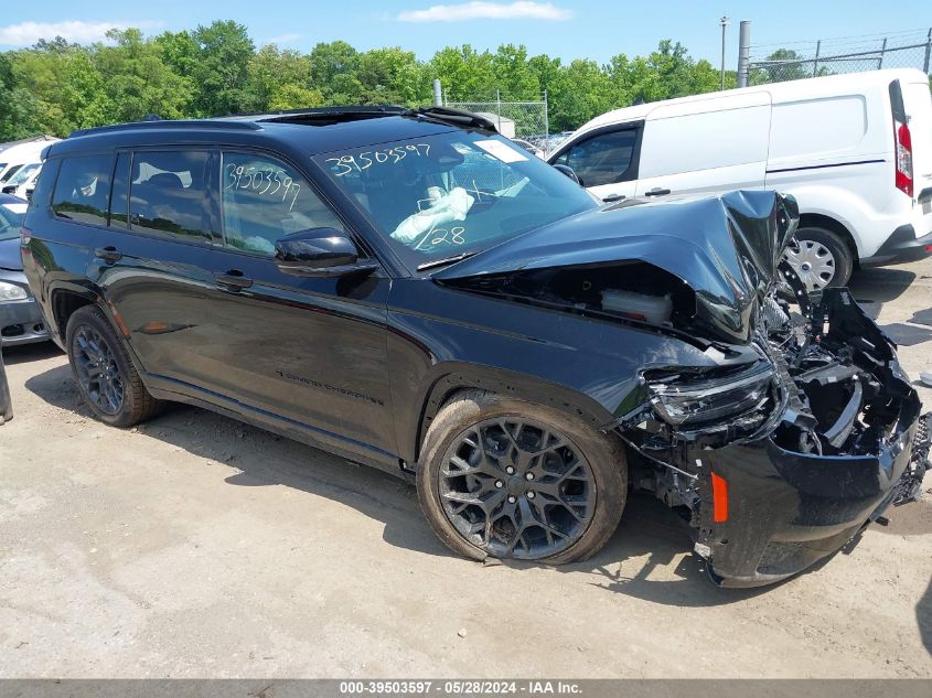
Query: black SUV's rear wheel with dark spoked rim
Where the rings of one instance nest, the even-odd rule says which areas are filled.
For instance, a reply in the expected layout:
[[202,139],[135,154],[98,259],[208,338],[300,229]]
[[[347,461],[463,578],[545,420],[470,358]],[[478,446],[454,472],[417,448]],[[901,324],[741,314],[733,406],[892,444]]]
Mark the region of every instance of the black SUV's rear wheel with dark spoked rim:
[[99,308],[85,305],[65,330],[68,363],[95,417],[114,427],[132,427],[154,416],[153,398],[127,354],[122,340]]

